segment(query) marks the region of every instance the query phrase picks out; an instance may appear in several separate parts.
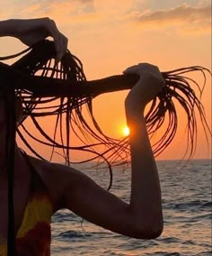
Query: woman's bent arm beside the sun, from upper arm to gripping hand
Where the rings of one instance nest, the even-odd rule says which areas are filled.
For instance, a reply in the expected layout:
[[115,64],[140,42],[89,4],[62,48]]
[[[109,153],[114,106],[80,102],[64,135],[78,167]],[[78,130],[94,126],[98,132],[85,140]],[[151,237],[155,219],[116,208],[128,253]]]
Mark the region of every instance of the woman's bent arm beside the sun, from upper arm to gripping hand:
[[150,64],[137,65],[127,72],[141,77],[129,92],[125,104],[130,128],[130,203],[123,202],[91,178],[68,167],[52,165],[50,171],[45,172],[48,175],[45,179],[51,194],[60,195],[58,208],[66,207],[93,224],[116,233],[152,239],[163,231],[163,214],[160,183],[146,131],[144,109],[163,87],[163,78]]

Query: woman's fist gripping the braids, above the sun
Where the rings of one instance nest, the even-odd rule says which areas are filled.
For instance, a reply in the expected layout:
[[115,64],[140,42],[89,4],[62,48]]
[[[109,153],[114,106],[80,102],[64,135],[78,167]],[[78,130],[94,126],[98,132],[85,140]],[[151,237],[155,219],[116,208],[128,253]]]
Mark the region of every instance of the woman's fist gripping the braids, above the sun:
[[144,111],[145,106],[165,86],[163,76],[158,67],[140,63],[126,69],[124,74],[137,74],[140,76],[137,84],[129,91],[125,100],[127,110]]

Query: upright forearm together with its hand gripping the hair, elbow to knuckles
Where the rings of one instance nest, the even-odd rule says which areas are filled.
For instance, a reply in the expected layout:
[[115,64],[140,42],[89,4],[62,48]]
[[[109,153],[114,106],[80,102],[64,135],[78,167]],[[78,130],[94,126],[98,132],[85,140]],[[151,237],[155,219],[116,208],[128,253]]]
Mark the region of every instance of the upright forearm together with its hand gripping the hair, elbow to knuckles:
[[137,218],[138,226],[145,227],[146,225],[146,231],[150,233],[151,229],[155,234],[162,233],[160,181],[146,130],[144,112],[146,105],[165,84],[159,69],[147,63],[128,68],[125,73],[140,75],[140,80],[131,89],[125,102],[127,123],[130,129],[132,168],[129,207],[131,213]]

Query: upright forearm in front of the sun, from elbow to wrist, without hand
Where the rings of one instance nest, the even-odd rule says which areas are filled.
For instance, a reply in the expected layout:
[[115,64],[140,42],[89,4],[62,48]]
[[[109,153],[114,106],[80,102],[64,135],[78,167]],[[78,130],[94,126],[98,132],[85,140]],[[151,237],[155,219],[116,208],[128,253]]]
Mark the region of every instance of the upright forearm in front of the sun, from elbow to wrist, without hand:
[[142,113],[126,109],[129,142],[131,151],[131,197],[130,214],[134,216],[139,227],[155,229],[161,233],[163,229],[163,213],[161,188],[155,158],[146,131],[146,121]]

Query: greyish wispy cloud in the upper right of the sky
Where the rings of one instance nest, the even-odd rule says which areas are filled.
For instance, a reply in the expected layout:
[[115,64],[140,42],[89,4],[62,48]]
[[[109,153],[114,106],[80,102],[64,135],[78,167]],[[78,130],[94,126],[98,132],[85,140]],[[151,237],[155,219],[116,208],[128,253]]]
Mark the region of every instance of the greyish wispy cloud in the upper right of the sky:
[[211,29],[210,5],[193,7],[184,4],[170,10],[135,12],[131,16],[144,28],[148,25],[148,29],[167,26],[175,26],[184,32],[209,32]]

